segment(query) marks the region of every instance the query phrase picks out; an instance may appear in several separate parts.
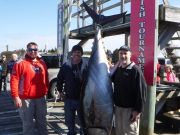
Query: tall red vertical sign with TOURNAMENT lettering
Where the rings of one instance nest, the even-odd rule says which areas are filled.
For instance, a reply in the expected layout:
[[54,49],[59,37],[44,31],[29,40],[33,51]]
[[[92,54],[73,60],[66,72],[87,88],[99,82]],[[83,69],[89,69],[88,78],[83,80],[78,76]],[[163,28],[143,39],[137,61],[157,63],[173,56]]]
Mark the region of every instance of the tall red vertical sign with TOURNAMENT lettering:
[[131,1],[132,60],[141,67],[147,84],[155,83],[154,56],[156,44],[156,0]]

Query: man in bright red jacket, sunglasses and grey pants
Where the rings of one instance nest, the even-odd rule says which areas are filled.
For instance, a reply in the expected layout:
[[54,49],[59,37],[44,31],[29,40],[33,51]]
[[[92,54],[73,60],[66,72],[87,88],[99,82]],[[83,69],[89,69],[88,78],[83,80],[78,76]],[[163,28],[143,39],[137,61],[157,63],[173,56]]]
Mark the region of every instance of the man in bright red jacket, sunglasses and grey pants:
[[35,134],[35,119],[38,135],[48,135],[45,101],[49,85],[48,73],[44,61],[38,58],[36,43],[27,44],[25,58],[13,67],[10,85],[11,95],[23,121],[23,134]]

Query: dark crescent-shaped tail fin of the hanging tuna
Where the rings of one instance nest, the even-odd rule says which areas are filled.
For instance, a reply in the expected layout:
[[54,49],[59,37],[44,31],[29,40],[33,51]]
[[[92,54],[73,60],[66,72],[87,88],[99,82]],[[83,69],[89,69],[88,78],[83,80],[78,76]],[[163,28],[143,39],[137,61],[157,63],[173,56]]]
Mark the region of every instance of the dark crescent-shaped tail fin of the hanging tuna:
[[94,10],[92,10],[84,1],[83,1],[83,6],[88,12],[88,14],[91,16],[91,18],[99,25],[103,26],[107,23],[110,23],[112,21],[115,21],[120,18],[124,18],[126,12],[123,12],[121,14],[116,14],[116,15],[111,15],[111,16],[104,16],[104,15],[98,15]]

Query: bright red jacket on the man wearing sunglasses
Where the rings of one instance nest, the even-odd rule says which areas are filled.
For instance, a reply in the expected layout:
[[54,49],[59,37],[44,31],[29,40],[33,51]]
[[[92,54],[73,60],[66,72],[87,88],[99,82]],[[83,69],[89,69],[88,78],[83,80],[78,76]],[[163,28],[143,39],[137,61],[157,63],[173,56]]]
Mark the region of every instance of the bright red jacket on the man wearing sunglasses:
[[35,99],[46,95],[49,81],[44,61],[27,57],[18,61],[12,70],[10,86],[13,98]]

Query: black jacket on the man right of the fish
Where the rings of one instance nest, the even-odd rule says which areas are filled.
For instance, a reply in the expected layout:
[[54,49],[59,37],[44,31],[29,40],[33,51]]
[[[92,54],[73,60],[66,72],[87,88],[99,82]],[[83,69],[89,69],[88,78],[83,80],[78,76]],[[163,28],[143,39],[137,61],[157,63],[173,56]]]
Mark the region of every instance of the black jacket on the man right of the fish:
[[146,100],[147,85],[141,69],[131,63],[126,68],[117,67],[112,75],[116,106],[133,108],[142,112]]

